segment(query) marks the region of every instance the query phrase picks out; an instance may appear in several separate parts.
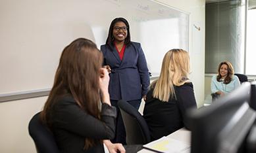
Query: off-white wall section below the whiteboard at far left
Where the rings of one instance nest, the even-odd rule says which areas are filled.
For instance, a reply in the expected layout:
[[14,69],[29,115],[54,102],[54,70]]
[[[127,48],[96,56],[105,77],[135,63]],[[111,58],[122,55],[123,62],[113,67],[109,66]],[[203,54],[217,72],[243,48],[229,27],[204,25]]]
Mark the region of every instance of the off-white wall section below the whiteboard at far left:
[[36,152],[28,123],[42,109],[46,97],[0,103],[0,152]]

